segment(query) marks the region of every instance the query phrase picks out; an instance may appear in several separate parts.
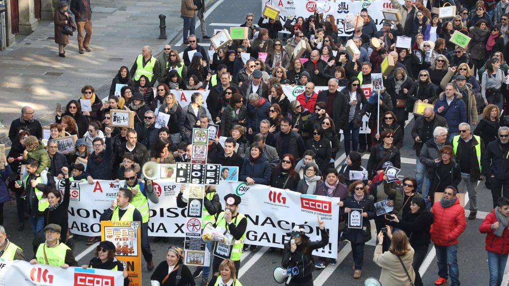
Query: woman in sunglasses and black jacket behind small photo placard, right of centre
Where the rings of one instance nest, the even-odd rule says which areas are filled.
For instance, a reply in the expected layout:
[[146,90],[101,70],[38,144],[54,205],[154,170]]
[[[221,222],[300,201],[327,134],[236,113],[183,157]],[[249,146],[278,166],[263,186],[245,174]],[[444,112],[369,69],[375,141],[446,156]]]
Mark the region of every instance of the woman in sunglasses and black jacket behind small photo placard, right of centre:
[[394,131],[387,129],[380,134],[382,144],[373,147],[370,159],[367,161],[367,174],[371,180],[376,174],[380,174],[384,162],[390,161],[394,167],[401,168],[400,150],[392,142],[394,141]]

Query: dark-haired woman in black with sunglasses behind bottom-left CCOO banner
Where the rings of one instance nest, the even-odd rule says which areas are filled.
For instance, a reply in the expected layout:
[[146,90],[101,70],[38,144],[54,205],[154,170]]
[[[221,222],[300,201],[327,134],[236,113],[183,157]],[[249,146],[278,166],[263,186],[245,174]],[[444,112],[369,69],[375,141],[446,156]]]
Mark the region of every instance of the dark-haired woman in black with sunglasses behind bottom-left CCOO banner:
[[82,265],[81,268],[122,271],[122,275],[124,276],[124,286],[129,286],[127,270],[124,269],[124,264],[115,258],[115,249],[115,244],[112,242],[101,241],[96,248],[94,258],[90,260],[88,265]]

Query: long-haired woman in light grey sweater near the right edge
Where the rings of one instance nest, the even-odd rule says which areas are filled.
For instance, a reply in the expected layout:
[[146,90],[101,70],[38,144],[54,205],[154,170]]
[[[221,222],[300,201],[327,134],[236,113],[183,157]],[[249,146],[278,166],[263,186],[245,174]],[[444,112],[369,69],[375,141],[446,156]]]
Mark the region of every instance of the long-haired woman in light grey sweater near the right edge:
[[495,104],[498,109],[502,109],[504,99],[500,89],[505,78],[504,72],[500,69],[500,59],[495,57],[489,59],[480,86],[480,94],[486,105]]

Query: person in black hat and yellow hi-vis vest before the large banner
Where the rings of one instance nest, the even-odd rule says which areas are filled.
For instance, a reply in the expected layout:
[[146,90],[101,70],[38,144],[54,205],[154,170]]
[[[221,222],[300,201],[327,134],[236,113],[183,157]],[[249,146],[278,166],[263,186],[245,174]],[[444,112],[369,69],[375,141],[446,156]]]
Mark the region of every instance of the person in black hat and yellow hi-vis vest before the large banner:
[[[255,149],[255,148],[251,148]],[[212,271],[214,276],[209,281],[209,285],[214,285],[217,279],[216,274],[219,271],[219,265],[225,259],[231,259],[235,264],[235,276],[239,276],[240,269],[240,256],[242,254],[242,249],[244,248],[244,240],[246,238],[246,228],[247,228],[247,218],[238,212],[239,205],[241,203],[240,196],[236,194],[227,194],[224,196],[225,201],[225,210],[224,212],[220,212],[216,217],[216,222],[214,223],[214,227],[223,227],[228,231],[234,238],[235,242],[233,245],[221,244],[221,248],[229,248],[229,255],[224,254],[224,252],[219,252],[218,244],[215,243],[214,247],[214,260],[212,262]],[[252,245],[254,246],[254,245]],[[256,246],[254,246],[256,248]],[[252,249],[251,249],[252,250]]]

